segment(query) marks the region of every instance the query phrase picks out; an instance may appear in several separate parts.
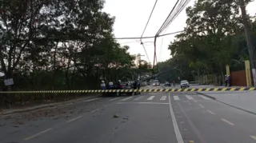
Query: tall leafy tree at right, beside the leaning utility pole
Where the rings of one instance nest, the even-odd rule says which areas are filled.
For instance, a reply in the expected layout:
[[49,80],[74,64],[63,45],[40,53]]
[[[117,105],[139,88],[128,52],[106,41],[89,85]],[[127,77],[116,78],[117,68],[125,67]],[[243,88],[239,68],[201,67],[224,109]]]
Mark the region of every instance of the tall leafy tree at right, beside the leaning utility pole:
[[[232,42],[242,34],[235,1],[198,0],[186,9],[187,26],[169,46],[172,56],[184,56],[194,75],[222,76],[237,51]],[[238,47],[236,47],[238,48]]]

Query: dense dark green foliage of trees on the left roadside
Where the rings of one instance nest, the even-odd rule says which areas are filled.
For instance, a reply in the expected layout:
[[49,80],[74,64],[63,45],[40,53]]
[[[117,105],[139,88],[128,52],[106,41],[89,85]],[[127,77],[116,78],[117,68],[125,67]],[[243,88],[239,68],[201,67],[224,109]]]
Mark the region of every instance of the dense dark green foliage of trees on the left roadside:
[[1,3],[1,70],[15,89],[97,89],[132,77],[134,56],[113,39],[103,0]]

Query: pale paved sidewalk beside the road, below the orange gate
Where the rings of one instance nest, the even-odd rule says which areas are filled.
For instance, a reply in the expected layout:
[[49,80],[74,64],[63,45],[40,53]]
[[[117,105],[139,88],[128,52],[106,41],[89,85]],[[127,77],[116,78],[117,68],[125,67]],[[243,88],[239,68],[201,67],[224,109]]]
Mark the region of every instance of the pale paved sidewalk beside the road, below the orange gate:
[[256,91],[198,92],[223,104],[256,114]]

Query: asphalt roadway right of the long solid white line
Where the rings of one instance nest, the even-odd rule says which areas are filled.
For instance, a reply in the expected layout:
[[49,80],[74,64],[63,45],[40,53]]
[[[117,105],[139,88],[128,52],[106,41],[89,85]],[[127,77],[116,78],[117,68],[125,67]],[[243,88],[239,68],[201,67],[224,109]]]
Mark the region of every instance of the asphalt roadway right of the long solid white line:
[[187,95],[179,94],[179,101],[172,97],[174,113],[185,141],[189,141],[186,139],[189,137],[194,142],[207,143],[256,142],[256,116],[218,101],[203,99],[197,94],[190,95],[197,101],[194,102]]

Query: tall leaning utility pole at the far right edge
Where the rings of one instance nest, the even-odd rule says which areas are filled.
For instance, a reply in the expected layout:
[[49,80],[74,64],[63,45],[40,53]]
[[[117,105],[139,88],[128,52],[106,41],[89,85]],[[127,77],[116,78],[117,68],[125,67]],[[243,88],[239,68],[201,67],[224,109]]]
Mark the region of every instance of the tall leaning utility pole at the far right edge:
[[253,45],[252,39],[250,37],[250,24],[249,16],[246,14],[246,2],[244,0],[238,0],[241,13],[242,13],[242,23],[245,29],[246,42],[248,46],[248,51],[250,55],[250,66],[253,73],[254,87],[256,87],[256,51]]

